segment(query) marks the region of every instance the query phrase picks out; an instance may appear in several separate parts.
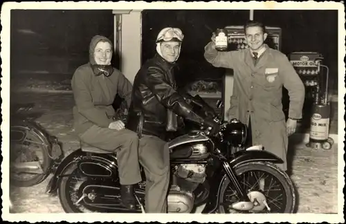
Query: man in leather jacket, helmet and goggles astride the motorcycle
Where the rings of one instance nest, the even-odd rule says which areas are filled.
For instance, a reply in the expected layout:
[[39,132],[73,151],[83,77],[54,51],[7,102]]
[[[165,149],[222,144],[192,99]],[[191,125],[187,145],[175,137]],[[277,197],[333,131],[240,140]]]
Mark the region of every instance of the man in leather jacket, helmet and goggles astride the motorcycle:
[[[182,118],[206,124],[212,132],[219,125],[212,118],[202,118],[189,102],[210,107],[188,93],[178,93],[174,67],[181,52],[183,33],[179,28],[164,28],[156,38],[156,55],[147,60],[134,79],[132,101],[126,128],[138,133],[138,156],[147,178],[145,212],[167,212],[170,182],[170,151],[167,133],[176,131]],[[135,202],[134,202],[135,203]]]

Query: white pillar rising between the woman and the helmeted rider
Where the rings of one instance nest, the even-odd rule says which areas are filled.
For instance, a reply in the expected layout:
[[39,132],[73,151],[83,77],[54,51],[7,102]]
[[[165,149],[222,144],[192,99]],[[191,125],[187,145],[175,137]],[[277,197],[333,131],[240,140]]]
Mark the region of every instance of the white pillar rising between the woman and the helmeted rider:
[[142,13],[131,10],[121,19],[120,67],[122,73],[133,83],[141,66],[142,57]]

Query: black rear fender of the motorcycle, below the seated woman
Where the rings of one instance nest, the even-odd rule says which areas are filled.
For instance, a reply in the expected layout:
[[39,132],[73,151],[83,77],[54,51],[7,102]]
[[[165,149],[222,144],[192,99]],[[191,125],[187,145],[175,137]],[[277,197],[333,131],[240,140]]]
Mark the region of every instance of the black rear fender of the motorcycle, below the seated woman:
[[[64,171],[74,163],[78,164],[80,168],[82,167],[86,176],[115,178],[118,174],[118,165],[115,156],[110,154],[86,153],[82,149],[78,149],[69,154],[69,156],[66,156],[60,165],[57,166],[53,177],[48,183],[46,192],[51,194],[57,190],[60,180],[64,176]],[[89,169],[84,169],[85,166],[83,165],[86,165]],[[87,172],[85,172],[86,170]]]

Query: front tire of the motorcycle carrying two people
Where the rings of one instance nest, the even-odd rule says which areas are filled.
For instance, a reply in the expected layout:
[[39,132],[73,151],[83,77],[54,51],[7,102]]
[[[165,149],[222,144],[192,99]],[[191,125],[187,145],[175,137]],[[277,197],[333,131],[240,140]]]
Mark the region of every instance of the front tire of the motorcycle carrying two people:
[[[235,167],[237,176],[244,174],[246,171],[264,171],[267,174],[275,176],[275,178],[280,181],[286,193],[286,207],[284,208],[284,212],[279,213],[293,213],[295,209],[295,188],[291,179],[284,171],[271,162],[248,162]],[[226,213],[223,203],[225,201],[225,192],[229,184],[229,178],[225,178],[224,183],[221,185],[219,193],[219,213],[221,214]]]

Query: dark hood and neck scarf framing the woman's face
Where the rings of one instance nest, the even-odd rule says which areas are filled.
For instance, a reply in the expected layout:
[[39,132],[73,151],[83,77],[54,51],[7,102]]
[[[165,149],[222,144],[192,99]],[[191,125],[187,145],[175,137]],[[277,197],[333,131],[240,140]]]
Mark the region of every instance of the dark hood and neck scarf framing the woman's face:
[[[100,36],[100,35],[95,35],[91,41],[90,41],[90,45],[89,45],[89,62],[91,64],[91,68],[93,69],[93,73],[94,75],[98,76],[98,75],[105,75],[105,76],[109,76],[113,73],[113,66],[111,64],[109,65],[101,65],[101,64],[96,64],[95,59],[94,59],[94,52],[95,52],[95,47],[98,44],[98,42],[108,42],[111,45],[111,48],[113,49],[113,44],[111,43],[111,41],[104,36]],[[113,50],[112,50],[113,52]]]

